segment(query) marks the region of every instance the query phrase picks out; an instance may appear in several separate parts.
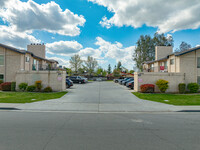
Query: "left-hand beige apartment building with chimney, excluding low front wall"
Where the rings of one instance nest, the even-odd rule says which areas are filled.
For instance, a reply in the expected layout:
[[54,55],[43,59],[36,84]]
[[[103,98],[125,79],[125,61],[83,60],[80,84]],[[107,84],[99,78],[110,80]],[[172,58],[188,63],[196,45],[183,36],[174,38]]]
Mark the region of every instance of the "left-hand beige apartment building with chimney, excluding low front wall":
[[18,71],[56,70],[58,62],[45,58],[44,44],[30,44],[27,50],[19,50],[0,44],[0,80],[15,81]]

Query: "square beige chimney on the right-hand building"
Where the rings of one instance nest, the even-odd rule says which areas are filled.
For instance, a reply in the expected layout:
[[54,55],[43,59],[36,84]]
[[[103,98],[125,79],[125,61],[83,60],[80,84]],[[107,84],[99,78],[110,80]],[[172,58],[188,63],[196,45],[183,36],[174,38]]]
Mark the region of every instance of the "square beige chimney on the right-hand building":
[[156,46],[155,47],[155,60],[167,57],[172,54],[172,46]]

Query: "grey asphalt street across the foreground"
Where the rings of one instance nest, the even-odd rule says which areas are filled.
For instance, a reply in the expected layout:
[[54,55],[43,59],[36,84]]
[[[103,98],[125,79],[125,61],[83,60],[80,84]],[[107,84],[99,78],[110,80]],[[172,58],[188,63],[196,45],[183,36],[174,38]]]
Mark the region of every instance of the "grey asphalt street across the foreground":
[[0,113],[0,150],[199,150],[198,113]]

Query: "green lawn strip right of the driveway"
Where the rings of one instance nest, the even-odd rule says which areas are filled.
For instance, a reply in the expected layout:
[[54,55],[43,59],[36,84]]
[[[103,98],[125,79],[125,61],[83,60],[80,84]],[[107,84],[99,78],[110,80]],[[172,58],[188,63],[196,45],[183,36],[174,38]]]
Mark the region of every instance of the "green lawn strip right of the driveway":
[[200,105],[200,94],[196,95],[146,94],[146,93],[133,93],[133,94],[139,97],[140,99],[172,104],[172,105]]

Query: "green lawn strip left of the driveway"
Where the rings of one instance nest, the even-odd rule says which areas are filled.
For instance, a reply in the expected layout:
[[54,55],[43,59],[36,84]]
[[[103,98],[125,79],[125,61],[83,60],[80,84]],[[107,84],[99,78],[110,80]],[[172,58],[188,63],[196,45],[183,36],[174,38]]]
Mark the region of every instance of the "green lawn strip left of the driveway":
[[28,92],[0,92],[0,103],[32,103],[37,101],[57,99],[67,92],[56,93],[28,93]]

